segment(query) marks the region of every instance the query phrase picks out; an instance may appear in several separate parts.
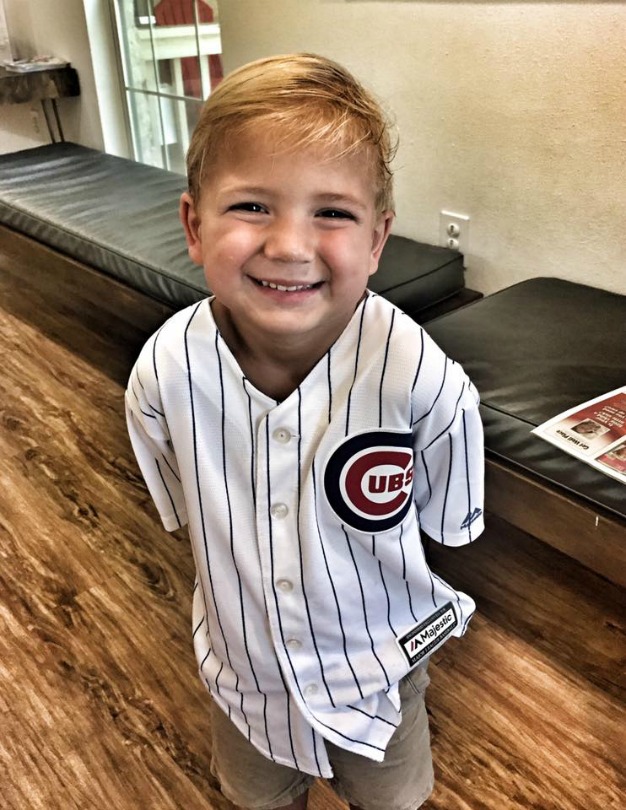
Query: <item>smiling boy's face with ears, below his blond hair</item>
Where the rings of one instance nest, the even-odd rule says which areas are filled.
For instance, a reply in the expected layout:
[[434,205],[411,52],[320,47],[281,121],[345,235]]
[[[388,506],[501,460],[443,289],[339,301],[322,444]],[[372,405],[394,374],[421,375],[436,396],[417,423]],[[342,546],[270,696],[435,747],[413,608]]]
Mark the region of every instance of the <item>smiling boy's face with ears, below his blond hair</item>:
[[218,325],[226,320],[244,342],[325,350],[352,317],[389,233],[392,214],[376,213],[374,195],[364,154],[275,154],[263,133],[230,144],[197,208],[188,194],[181,199],[189,255],[204,267]]

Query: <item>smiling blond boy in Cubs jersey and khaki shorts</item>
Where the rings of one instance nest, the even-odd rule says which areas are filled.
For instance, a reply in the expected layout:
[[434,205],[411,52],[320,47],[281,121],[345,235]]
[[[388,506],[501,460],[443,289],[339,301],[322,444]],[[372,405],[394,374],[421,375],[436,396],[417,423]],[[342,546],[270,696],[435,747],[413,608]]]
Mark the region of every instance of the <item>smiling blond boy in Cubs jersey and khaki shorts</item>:
[[482,530],[477,394],[366,289],[393,219],[378,104],[339,65],[274,57],[206,102],[180,213],[213,296],[132,373],[128,424],[163,524],[188,523],[212,770],[240,807],[432,790],[428,656],[473,601],[432,573]]

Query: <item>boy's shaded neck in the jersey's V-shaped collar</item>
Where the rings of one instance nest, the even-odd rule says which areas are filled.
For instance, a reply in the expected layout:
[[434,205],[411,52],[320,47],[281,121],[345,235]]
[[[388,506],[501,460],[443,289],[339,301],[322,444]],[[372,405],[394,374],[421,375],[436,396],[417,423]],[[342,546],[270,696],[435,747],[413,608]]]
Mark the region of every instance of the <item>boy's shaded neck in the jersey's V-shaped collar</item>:
[[304,337],[294,341],[279,335],[245,335],[218,301],[213,301],[212,312],[220,335],[247,379],[279,402],[296,390],[341,334],[327,336],[324,343]]

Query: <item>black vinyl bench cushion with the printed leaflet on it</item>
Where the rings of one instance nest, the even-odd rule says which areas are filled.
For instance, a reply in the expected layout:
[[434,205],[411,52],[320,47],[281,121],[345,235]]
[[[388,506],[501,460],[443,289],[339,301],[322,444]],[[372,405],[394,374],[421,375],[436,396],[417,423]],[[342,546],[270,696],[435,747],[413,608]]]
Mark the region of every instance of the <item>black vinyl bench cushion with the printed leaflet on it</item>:
[[476,385],[488,455],[626,517],[622,483],[530,432],[626,383],[626,296],[535,278],[424,328]]

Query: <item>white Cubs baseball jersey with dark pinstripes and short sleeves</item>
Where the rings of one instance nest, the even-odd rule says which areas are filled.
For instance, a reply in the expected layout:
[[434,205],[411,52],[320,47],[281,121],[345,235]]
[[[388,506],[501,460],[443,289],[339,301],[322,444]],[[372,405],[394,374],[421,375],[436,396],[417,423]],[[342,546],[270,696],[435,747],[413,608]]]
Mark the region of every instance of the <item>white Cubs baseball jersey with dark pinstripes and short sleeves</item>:
[[283,402],[245,378],[209,300],[144,347],[129,431],[166,529],[189,525],[200,674],[265,756],[329,777],[326,739],[382,760],[398,681],[465,631],[474,602],[429,570],[419,528],[482,531],[477,404],[372,293]]

